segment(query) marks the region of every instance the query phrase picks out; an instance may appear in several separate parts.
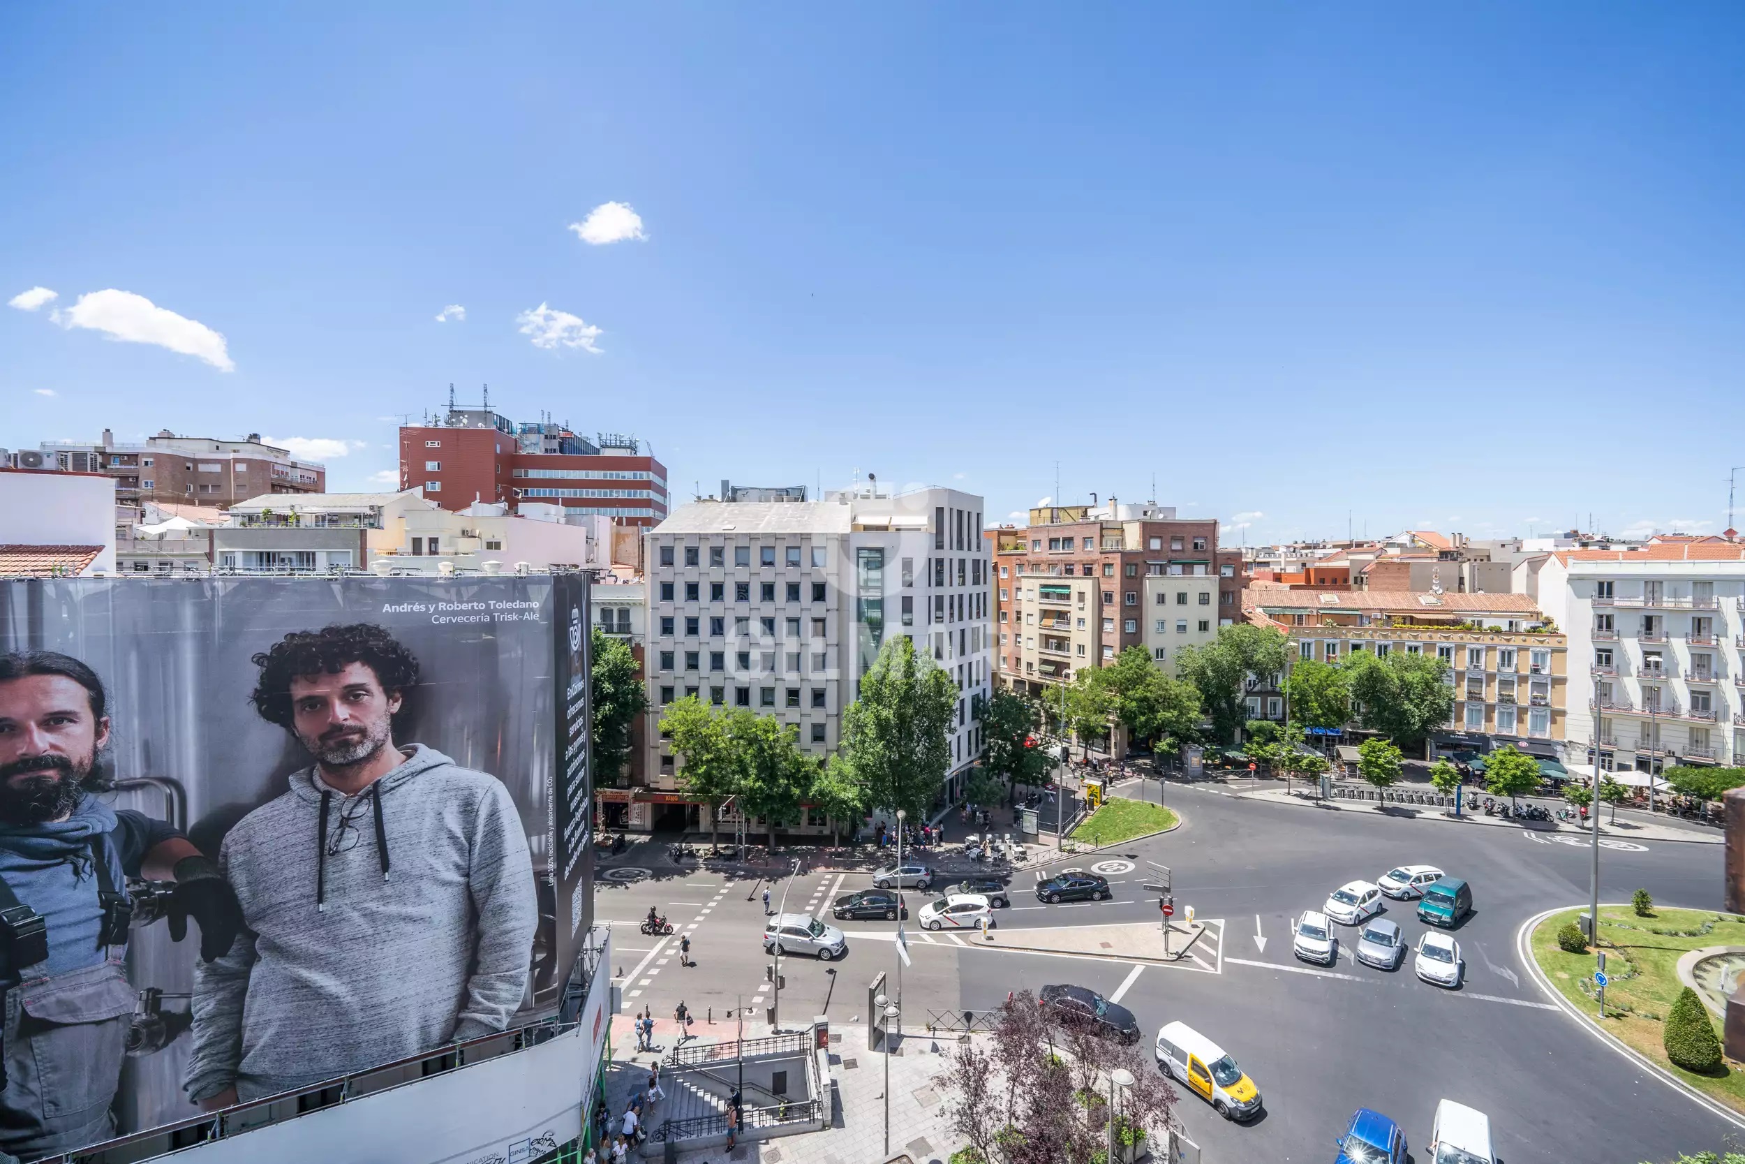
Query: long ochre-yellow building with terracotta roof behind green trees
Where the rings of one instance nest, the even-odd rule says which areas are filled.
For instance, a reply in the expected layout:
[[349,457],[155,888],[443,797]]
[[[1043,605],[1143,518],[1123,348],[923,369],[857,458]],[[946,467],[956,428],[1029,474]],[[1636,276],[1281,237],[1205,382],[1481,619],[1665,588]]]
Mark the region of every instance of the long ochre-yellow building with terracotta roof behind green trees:
[[[1569,738],[1569,637],[1520,593],[1293,590],[1251,586],[1249,621],[1291,639],[1291,660],[1342,663],[1356,651],[1433,654],[1448,663],[1454,716],[1438,752],[1511,743],[1562,759]],[[1281,675],[1248,691],[1255,719],[1284,719]]]

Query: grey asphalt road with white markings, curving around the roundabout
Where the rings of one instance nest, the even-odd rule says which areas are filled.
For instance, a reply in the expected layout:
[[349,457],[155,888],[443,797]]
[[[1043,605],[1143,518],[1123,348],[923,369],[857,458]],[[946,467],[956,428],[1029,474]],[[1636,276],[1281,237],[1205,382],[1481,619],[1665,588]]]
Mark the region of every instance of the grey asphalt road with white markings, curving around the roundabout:
[[[1152,799],[1157,782],[1150,782]],[[1136,787],[1133,789],[1138,791]],[[1143,860],[1167,864],[1178,906],[1194,904],[1208,932],[1195,962],[1171,967],[1119,960],[1023,955],[974,948],[972,935],[914,934],[913,965],[902,972],[906,1023],[930,1012],[982,1010],[1007,991],[1078,983],[1131,1007],[1150,1035],[1183,1019],[1235,1056],[1255,1078],[1265,1113],[1227,1124],[1183,1094],[1178,1117],[1206,1161],[1326,1161],[1356,1106],[1393,1115],[1413,1145],[1429,1134],[1443,1096],[1488,1112],[1497,1155],[1536,1161],[1666,1161],[1680,1152],[1745,1143],[1745,1131],[1637,1070],[1527,979],[1515,953],[1529,916],[1588,897],[1590,853],[1530,838],[1522,829],[1450,825],[1431,820],[1337,813],[1241,801],[1211,789],[1167,785],[1166,801],[1185,824],[1171,834],[1063,864],[1134,862],[1110,874],[1115,900],[1044,906],[1024,895],[1033,874],[1014,881],[1014,907],[1000,925],[1073,927],[1150,921],[1155,899],[1141,890]],[[1476,913],[1455,939],[1466,983],[1445,991],[1412,976],[1384,974],[1347,956],[1351,930],[1330,970],[1291,956],[1288,920],[1319,907],[1354,878],[1373,880],[1396,864],[1436,864],[1464,876]],[[1647,888],[1666,906],[1719,907],[1722,850],[1715,845],[1644,843],[1644,852],[1602,852],[1602,900]],[[670,1044],[672,1007],[684,998],[698,1016],[693,1033],[731,1037],[728,1012],[752,1007],[757,1019],[775,995],[764,979],[759,894],[771,888],[790,913],[824,913],[839,892],[864,888],[866,874],[808,874],[775,883],[726,881],[714,874],[651,869],[630,885],[597,887],[597,916],[630,923],[614,930],[616,962],[639,970],[625,1009],[649,1005],[656,1042]],[[911,911],[923,897],[911,890]],[[635,934],[633,921],[661,904],[675,923],[695,925],[695,969],[681,969],[670,944]],[[1415,941],[1424,927],[1406,902],[1387,914]],[[850,953],[838,963],[784,958],[784,1024],[817,1014],[864,1023],[867,984],[885,970],[895,983],[890,923],[845,921]],[[1256,941],[1258,939],[1263,941]],[[675,941],[675,939],[672,939]],[[639,967],[637,963],[642,962]],[[707,1023],[714,1012],[714,1026]],[[1178,1089],[1180,1091],[1180,1089]],[[1419,1161],[1422,1161],[1422,1154]]]

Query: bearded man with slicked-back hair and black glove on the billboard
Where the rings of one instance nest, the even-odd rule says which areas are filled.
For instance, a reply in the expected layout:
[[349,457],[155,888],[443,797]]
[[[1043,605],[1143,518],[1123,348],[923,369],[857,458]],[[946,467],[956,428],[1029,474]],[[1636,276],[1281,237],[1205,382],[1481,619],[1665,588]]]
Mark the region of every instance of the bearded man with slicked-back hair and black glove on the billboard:
[[124,958],[127,878],[176,881],[171,935],[201,923],[218,958],[236,897],[173,825],[113,810],[108,698],[96,672],[52,651],[0,654],[0,1152],[35,1161],[108,1140],[134,989]]

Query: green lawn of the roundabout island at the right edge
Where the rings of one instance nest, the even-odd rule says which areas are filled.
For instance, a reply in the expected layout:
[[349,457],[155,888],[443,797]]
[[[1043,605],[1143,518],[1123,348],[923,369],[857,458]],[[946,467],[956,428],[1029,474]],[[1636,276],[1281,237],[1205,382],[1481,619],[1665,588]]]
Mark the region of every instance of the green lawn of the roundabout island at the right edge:
[[[1745,948],[1745,918],[1707,909],[1658,907],[1649,916],[1639,916],[1630,906],[1600,906],[1598,949],[1605,953],[1607,977],[1602,1019],[1593,986],[1593,951],[1569,953],[1557,941],[1565,925],[1579,928],[1583,913],[1586,911],[1564,909],[1544,914],[1529,932],[1527,944],[1541,981],[1583,1019],[1661,1072],[1735,1112],[1745,1112],[1745,1063],[1722,1059],[1715,1072],[1687,1072],[1666,1058],[1665,1047],[1666,1016],[1689,984],[1693,967],[1700,967],[1715,949]],[[1696,977],[1701,981],[1701,974]],[[1705,991],[1700,988],[1698,993]],[[1715,1002],[1705,998],[1705,1005],[1712,1010]],[[1705,1017],[1714,1019],[1714,1014]],[[1719,1035],[1719,1021],[1712,1024]]]

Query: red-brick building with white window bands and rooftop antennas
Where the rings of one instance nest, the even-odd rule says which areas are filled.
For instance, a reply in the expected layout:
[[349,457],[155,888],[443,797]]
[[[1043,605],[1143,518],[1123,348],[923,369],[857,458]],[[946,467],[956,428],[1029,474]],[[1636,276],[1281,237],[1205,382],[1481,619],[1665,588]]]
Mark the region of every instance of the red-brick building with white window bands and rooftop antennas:
[[667,517],[667,466],[635,436],[586,440],[555,421],[517,422],[487,403],[457,407],[400,429],[400,487],[445,510],[475,501],[562,506],[565,520],[607,517],[651,527]]

